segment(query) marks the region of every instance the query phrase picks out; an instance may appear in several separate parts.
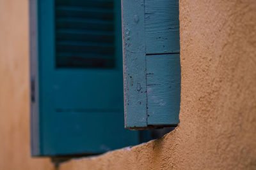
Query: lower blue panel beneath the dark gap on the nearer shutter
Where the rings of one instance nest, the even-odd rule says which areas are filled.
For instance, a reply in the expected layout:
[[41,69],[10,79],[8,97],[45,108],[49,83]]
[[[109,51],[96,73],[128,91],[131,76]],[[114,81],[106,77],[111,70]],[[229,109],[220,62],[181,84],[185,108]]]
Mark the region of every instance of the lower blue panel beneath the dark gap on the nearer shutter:
[[179,124],[179,53],[147,55],[147,97],[148,125]]

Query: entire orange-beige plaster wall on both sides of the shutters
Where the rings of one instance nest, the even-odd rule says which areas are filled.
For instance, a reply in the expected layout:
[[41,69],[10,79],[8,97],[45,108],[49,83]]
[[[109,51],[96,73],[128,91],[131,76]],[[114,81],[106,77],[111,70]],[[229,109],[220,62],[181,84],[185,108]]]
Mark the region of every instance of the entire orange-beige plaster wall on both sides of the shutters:
[[[0,0],[0,170],[29,156],[28,1]],[[256,169],[256,1],[180,0],[180,124],[161,139],[74,169]]]

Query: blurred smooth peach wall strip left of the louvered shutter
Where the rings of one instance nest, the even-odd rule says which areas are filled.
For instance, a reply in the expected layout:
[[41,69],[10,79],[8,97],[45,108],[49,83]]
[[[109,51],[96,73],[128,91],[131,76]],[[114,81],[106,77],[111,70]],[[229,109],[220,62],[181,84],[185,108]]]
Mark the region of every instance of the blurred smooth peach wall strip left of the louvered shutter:
[[28,1],[0,0],[0,170],[51,169],[31,159]]

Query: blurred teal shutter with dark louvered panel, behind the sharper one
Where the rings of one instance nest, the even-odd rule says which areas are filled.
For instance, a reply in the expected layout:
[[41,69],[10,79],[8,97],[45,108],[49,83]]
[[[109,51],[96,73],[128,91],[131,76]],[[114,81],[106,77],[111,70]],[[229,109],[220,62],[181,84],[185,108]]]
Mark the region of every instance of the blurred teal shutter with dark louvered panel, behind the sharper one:
[[31,0],[30,11],[32,155],[140,143],[124,129],[120,1]]

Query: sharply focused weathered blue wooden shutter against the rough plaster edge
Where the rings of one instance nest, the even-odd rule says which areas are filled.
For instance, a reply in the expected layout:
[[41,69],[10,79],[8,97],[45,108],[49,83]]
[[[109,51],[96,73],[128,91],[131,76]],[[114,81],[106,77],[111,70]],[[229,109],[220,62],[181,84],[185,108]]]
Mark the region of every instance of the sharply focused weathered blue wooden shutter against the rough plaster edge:
[[122,0],[125,127],[176,126],[180,109],[178,0]]

